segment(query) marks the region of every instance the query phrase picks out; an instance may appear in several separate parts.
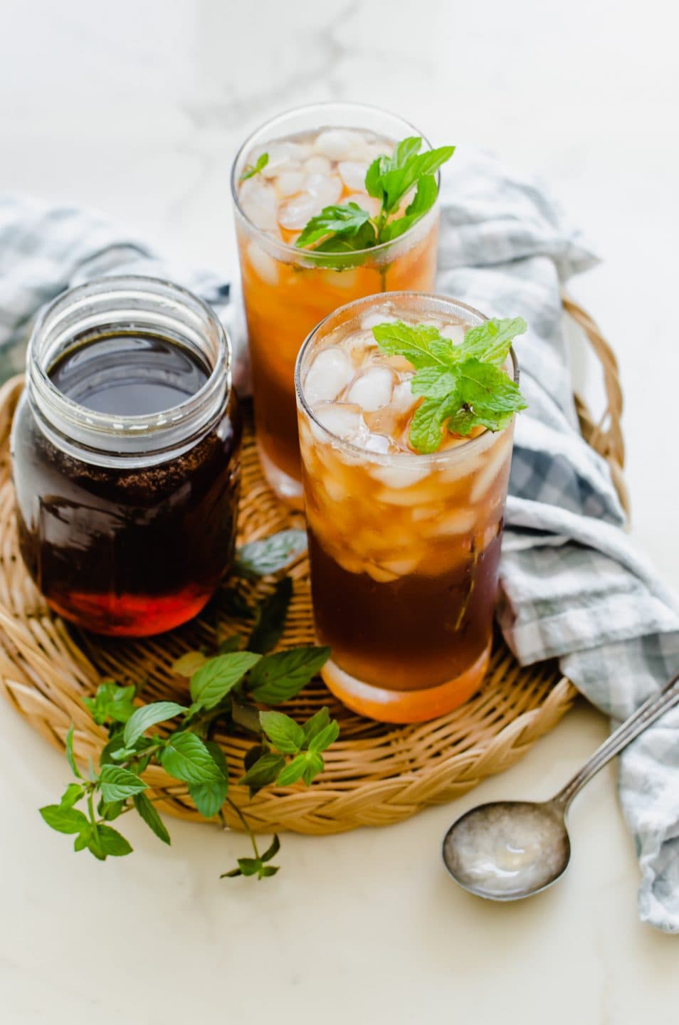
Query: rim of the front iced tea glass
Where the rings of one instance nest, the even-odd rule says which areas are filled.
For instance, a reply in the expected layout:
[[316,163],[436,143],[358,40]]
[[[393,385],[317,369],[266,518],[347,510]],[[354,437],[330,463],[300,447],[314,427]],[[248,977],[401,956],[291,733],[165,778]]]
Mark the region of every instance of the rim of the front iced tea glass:
[[[354,458],[360,456],[363,462],[377,462],[383,465],[393,465],[395,462],[404,463],[407,461],[409,463],[412,463],[412,460],[415,460],[415,464],[418,466],[422,465],[431,466],[433,464],[441,462],[445,463],[448,463],[450,461],[454,462],[456,460],[467,458],[470,455],[475,455],[477,452],[483,451],[483,449],[486,446],[491,444],[491,441],[489,441],[489,439],[498,438],[500,436],[505,434],[508,427],[511,426],[511,423],[514,422],[516,413],[514,414],[511,423],[508,424],[507,427],[503,427],[502,430],[493,432],[490,430],[488,427],[485,427],[480,435],[477,435],[475,438],[470,438],[466,441],[463,441],[462,444],[455,445],[453,448],[437,449],[436,452],[429,452],[429,453],[405,452],[405,451],[372,452],[367,449],[361,448],[360,445],[355,445],[353,442],[347,441],[347,439],[341,438],[338,435],[335,435],[333,434],[333,432],[329,430],[319,420],[319,418],[316,416],[313,409],[307,402],[307,399],[304,394],[304,386],[302,383],[302,364],[307,351],[313,345],[319,333],[322,333],[323,329],[327,326],[328,321],[331,321],[333,318],[340,315],[341,320],[340,323],[336,324],[336,327],[341,327],[342,324],[346,323],[347,320],[351,320],[351,314],[349,312],[361,306],[362,304],[366,304],[365,312],[368,313],[370,311],[370,304],[372,300],[382,299],[384,302],[391,302],[392,300],[398,302],[399,298],[408,298],[408,299],[415,298],[422,300],[423,303],[432,301],[438,303],[445,303],[448,306],[453,306],[456,310],[462,310],[465,311],[465,313],[471,314],[473,318],[476,319],[477,324],[482,324],[484,323],[484,321],[487,321],[489,319],[488,317],[486,317],[485,314],[482,314],[479,310],[477,310],[475,306],[470,305],[468,302],[463,302],[462,299],[453,299],[448,295],[441,295],[437,292],[413,292],[406,290],[398,292],[376,292],[374,295],[364,295],[358,299],[354,299],[352,302],[347,302],[343,306],[337,306],[335,310],[332,311],[332,313],[329,313],[326,317],[324,317],[322,321],[319,321],[319,323],[309,332],[309,334],[305,338],[299,348],[299,352],[297,353],[297,358],[294,364],[294,391],[296,394],[298,405],[302,407],[306,415],[314,422],[314,424],[316,424],[322,430],[322,433],[332,441],[333,444],[335,444],[340,449],[344,449],[345,451],[347,451]],[[423,310],[423,312],[433,313],[434,311]],[[346,313],[349,313],[349,316],[344,318],[344,315]],[[514,352],[513,345],[510,346],[509,355],[512,358],[512,367],[514,369],[513,380],[515,384],[518,384],[520,376],[519,362],[516,358],[516,353]]]

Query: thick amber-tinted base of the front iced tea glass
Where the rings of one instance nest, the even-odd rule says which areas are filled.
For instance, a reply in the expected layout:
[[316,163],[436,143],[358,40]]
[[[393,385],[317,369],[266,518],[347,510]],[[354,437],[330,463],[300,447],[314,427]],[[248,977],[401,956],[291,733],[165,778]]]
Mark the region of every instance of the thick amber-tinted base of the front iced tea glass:
[[425,723],[452,711],[478,690],[488,668],[491,643],[476,662],[454,680],[418,691],[389,691],[384,687],[373,687],[351,676],[331,660],[325,663],[321,675],[328,690],[352,711],[380,723]]

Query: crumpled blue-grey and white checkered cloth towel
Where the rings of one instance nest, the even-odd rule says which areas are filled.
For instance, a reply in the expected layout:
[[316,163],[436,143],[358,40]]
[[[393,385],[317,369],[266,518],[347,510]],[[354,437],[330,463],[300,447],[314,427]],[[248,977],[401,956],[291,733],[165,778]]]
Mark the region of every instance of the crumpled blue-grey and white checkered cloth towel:
[[[521,386],[500,621],[524,663],[556,657],[613,722],[679,670],[679,614],[623,531],[608,466],[582,440],[573,407],[561,286],[595,257],[534,183],[491,158],[455,155],[446,172],[439,291],[494,317],[521,315]],[[0,376],[23,369],[41,303],[101,274],[168,277],[224,305],[245,381],[239,303],[229,285],[162,263],[138,240],[76,209],[0,198]],[[232,293],[233,299],[233,293]],[[639,913],[679,932],[679,709],[620,758],[620,793],[642,872]]]

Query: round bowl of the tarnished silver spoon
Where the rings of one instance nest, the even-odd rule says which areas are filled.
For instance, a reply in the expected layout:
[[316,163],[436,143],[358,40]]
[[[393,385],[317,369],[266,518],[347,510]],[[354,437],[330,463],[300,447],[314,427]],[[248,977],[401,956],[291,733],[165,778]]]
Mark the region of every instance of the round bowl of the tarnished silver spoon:
[[553,802],[494,801],[457,819],[445,834],[443,861],[465,890],[486,900],[519,900],[565,872],[570,839]]

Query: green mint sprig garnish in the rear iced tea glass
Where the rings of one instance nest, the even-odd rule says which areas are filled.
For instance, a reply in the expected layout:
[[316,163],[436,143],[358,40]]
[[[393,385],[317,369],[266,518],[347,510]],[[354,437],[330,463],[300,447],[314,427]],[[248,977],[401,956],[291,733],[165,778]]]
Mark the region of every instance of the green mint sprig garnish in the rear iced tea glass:
[[[401,139],[391,157],[376,157],[368,167],[365,189],[368,196],[381,201],[376,216],[354,202],[326,206],[305,225],[295,246],[314,252],[349,253],[391,242],[412,228],[436,202],[436,171],[455,150],[454,146],[442,146],[420,153],[422,144],[417,135]],[[393,217],[413,187],[415,194],[405,212]]]

